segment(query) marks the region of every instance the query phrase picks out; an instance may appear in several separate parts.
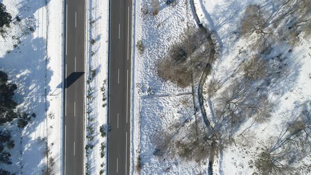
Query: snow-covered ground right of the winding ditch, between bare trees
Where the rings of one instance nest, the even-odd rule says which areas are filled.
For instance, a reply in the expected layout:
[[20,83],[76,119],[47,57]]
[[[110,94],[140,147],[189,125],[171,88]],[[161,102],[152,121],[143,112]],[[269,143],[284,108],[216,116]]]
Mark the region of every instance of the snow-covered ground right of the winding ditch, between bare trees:
[[[216,31],[218,42],[223,46],[220,60],[215,63],[215,69],[213,68],[212,76],[209,78],[213,80],[225,79],[242,63],[241,52],[242,54],[248,54],[249,52],[245,47],[247,46],[247,41],[243,38],[241,39],[236,34],[241,30],[240,25],[244,9],[248,4],[258,3],[258,1],[194,1],[201,22],[206,24],[211,30]],[[262,0],[259,4],[264,2],[266,0]],[[268,123],[256,124],[256,126],[252,127],[251,132],[256,133],[253,137],[257,139],[252,145],[238,144],[239,141],[237,140],[237,144],[224,149],[224,152],[218,157],[219,165],[215,166],[217,167],[218,174],[248,175],[257,172],[254,169],[254,163],[250,163],[254,162],[260,153],[257,148],[262,147],[264,142],[271,140],[271,137],[277,137],[284,122],[289,122],[291,117],[294,117],[293,111],[296,112],[294,115],[297,115],[301,111],[303,104],[311,100],[311,40],[303,39],[296,47],[282,44],[274,45],[273,47],[274,49],[267,57],[279,59],[280,62],[283,61],[285,67],[285,70],[282,70],[284,74],[274,80],[275,82],[272,82],[272,85],[266,89],[268,92],[267,98],[275,104],[273,115]],[[293,52],[289,52],[290,49]],[[218,93],[225,93],[225,87],[229,85],[229,82],[225,83],[223,85],[224,88],[221,88]],[[205,99],[208,98],[208,94],[205,94]],[[215,97],[211,99],[215,100]],[[207,113],[212,115],[209,110],[209,104],[207,101],[205,103]],[[242,133],[252,122],[249,120],[242,125],[237,133]],[[301,175],[308,175],[310,168],[309,172],[306,169],[308,169],[308,164],[309,167],[311,164],[310,155],[306,155],[302,162],[300,165],[297,165],[298,172]]]

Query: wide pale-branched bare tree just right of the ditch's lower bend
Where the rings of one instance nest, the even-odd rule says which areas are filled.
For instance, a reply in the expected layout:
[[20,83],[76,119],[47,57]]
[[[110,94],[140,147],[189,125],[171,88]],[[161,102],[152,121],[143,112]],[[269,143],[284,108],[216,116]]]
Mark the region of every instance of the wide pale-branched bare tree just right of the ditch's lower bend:
[[217,99],[217,106],[216,118],[221,125],[237,125],[247,118],[265,122],[271,117],[274,107],[264,94],[257,95],[251,89],[251,82],[237,79]]

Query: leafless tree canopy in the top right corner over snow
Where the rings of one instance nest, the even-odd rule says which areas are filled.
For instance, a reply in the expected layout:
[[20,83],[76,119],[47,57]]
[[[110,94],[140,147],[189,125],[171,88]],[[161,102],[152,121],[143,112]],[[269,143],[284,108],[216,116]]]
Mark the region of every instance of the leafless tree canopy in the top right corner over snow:
[[279,0],[275,10],[263,5],[249,5],[242,20],[241,35],[253,40],[253,49],[263,51],[276,40],[294,45],[299,35],[310,34],[310,0]]

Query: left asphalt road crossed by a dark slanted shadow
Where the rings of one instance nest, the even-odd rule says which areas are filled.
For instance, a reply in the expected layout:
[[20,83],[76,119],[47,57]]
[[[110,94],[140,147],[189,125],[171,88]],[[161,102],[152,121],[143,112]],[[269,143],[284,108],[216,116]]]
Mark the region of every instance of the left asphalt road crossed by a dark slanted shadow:
[[64,174],[84,174],[85,0],[66,0]]

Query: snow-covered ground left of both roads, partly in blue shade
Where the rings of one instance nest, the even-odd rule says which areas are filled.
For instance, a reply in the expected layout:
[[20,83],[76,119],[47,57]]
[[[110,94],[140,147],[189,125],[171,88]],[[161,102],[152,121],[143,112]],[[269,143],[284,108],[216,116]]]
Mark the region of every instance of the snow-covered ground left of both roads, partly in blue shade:
[[[61,173],[62,123],[62,9],[63,0],[0,0],[12,18],[0,36],[0,70],[17,84],[15,100],[20,112],[35,113],[22,130],[6,124],[15,147],[12,173],[39,175],[46,169],[44,152],[50,148],[54,173]],[[52,26],[52,27],[51,27]],[[2,167],[3,166],[3,167]]]

